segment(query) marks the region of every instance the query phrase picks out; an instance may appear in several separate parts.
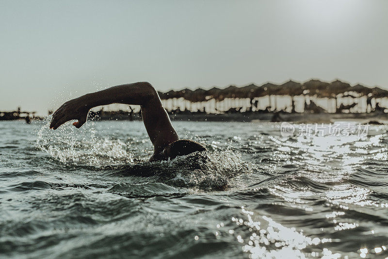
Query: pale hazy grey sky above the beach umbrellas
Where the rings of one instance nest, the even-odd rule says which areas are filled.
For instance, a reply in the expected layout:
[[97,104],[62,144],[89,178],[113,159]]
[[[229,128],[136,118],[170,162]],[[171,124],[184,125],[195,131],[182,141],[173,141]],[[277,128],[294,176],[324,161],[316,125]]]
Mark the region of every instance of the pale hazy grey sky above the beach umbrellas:
[[138,81],[388,89],[387,0],[0,0],[0,110]]

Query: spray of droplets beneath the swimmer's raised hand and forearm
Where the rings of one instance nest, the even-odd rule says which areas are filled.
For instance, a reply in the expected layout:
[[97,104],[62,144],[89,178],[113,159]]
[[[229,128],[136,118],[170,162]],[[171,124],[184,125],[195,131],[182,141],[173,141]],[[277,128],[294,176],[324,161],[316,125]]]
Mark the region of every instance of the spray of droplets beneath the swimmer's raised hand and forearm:
[[119,139],[97,136],[95,122],[89,121],[80,129],[66,122],[56,130],[49,129],[51,115],[37,133],[36,145],[55,160],[65,164],[102,167],[133,163],[133,154]]

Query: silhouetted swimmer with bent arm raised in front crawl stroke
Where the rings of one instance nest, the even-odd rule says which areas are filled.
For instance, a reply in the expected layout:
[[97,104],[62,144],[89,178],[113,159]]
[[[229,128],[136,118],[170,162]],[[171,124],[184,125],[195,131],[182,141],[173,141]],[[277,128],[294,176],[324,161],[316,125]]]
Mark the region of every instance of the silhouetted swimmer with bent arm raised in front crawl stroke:
[[140,105],[144,125],[154,145],[154,154],[149,161],[167,160],[195,151],[206,151],[198,142],[179,139],[158,92],[147,82],[113,86],[70,100],[53,113],[50,129],[55,130],[71,120],[78,120],[73,125],[80,128],[86,122],[91,108],[108,104]]

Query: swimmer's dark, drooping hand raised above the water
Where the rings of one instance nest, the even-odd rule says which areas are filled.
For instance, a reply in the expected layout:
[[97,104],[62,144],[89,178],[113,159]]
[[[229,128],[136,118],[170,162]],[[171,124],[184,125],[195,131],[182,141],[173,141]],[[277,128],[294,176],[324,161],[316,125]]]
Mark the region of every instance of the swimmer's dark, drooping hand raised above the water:
[[71,120],[78,120],[73,125],[76,128],[80,128],[86,122],[90,110],[90,106],[86,103],[83,96],[81,96],[62,104],[52,115],[50,129],[55,130],[65,122]]

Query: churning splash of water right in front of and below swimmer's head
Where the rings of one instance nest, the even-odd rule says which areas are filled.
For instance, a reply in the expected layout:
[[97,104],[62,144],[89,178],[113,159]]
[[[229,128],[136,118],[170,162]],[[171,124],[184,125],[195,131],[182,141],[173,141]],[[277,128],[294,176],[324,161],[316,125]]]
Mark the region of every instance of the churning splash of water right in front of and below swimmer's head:
[[[106,169],[112,172],[113,168]],[[231,178],[254,169],[255,165],[243,161],[239,152],[226,149],[115,167],[113,175],[149,177],[175,187],[224,190],[231,187]]]

